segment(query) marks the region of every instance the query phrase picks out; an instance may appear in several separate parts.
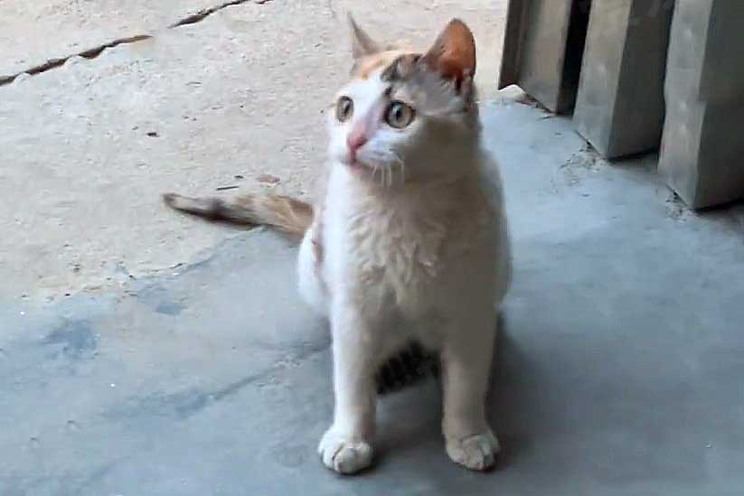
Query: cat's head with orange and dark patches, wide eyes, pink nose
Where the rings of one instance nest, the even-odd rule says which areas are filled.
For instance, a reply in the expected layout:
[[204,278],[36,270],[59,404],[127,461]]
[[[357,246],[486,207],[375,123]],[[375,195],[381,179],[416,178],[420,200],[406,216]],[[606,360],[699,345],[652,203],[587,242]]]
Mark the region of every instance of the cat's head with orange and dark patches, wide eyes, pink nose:
[[417,53],[374,42],[349,21],[352,80],[329,112],[335,166],[374,182],[452,173],[480,132],[473,34],[455,19],[429,51]]

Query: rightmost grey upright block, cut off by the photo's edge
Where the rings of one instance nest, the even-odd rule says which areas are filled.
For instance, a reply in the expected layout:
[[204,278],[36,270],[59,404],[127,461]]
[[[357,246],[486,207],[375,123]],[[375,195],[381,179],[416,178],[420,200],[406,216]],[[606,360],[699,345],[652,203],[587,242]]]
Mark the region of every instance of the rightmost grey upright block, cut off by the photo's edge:
[[744,2],[678,0],[659,172],[692,208],[744,198]]

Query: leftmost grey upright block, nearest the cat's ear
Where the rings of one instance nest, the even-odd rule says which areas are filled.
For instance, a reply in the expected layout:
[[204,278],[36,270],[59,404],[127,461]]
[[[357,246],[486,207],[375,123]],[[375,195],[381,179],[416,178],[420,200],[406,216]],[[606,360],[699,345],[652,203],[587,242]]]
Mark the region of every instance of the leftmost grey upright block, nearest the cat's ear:
[[589,0],[511,0],[499,88],[517,84],[546,108],[573,108]]

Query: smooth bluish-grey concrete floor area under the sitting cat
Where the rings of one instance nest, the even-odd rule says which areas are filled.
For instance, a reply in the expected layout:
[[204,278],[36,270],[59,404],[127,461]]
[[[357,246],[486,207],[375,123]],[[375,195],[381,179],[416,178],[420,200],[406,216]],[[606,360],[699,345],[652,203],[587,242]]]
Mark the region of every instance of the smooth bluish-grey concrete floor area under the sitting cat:
[[484,115],[515,257],[494,473],[447,460],[434,382],[381,400],[374,471],[322,467],[325,325],[296,248],[254,231],[119,290],[0,299],[0,494],[739,495],[744,209],[685,211],[655,157],[610,167],[568,120]]

